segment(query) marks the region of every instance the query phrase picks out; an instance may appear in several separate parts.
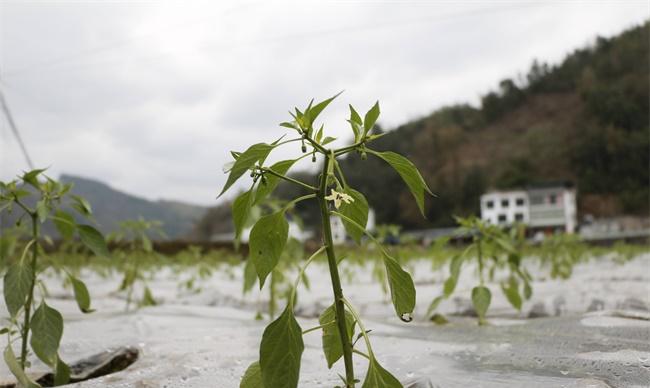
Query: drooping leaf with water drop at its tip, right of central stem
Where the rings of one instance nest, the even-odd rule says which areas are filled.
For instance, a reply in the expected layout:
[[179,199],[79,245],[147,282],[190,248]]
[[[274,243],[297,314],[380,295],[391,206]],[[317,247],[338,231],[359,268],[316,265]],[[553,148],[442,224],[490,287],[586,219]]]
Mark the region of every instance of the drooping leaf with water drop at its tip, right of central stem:
[[386,252],[384,255],[384,265],[388,275],[388,286],[390,287],[390,296],[393,301],[395,313],[399,319],[404,322],[410,322],[413,318],[411,314],[415,308],[415,285],[408,272],[404,271],[399,263],[390,257]]

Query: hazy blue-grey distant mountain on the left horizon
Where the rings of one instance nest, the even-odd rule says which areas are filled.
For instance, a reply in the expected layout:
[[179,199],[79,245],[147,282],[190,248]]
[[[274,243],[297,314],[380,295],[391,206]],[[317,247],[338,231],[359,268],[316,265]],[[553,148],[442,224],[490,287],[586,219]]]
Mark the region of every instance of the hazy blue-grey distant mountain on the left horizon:
[[99,228],[105,233],[117,230],[121,221],[142,217],[161,221],[170,239],[188,237],[207,210],[177,201],[149,201],[115,190],[103,182],[73,175],[63,174],[60,181],[73,183],[72,193],[90,202]]

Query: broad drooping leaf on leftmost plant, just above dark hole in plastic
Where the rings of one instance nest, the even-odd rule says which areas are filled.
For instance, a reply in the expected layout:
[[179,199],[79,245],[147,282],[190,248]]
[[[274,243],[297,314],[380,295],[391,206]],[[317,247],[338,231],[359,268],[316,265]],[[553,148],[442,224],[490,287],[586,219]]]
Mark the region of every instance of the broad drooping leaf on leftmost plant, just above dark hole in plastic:
[[41,302],[30,323],[32,337],[30,344],[34,354],[45,364],[56,367],[63,335],[63,317],[57,310]]

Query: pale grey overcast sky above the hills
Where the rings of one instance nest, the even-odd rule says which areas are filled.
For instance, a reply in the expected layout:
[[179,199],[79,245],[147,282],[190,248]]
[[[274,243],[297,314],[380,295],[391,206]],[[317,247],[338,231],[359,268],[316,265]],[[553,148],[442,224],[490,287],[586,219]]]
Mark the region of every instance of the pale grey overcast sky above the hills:
[[[620,0],[0,0],[0,88],[52,176],[214,205],[228,151],[276,139],[312,97],[345,89],[322,117],[342,142],[348,103],[379,100],[389,128],[477,104],[534,58],[557,63],[649,17],[648,1]],[[0,179],[24,169],[0,113]]]

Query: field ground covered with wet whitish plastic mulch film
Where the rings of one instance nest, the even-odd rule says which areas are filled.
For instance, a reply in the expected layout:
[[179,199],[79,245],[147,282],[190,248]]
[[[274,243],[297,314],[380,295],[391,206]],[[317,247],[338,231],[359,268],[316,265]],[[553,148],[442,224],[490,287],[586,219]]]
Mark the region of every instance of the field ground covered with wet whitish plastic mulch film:
[[[61,358],[75,364],[120,347],[133,347],[140,354],[121,372],[73,386],[239,385],[258,357],[262,332],[270,322],[268,287],[260,292],[255,285],[243,294],[244,264],[234,257],[224,259],[226,253],[203,259],[192,255],[200,256],[194,251],[174,260],[140,258],[141,279],[135,283],[128,311],[127,294],[116,291],[123,280],[119,266],[100,258],[90,258],[98,263],[93,265],[83,264],[85,258],[56,258],[79,261],[73,268],[88,285],[96,310],[80,313],[64,277],[51,269],[41,275],[48,304],[65,317]],[[414,319],[409,323],[395,316],[390,294],[377,281],[379,260],[371,251],[361,251],[340,264],[346,296],[364,317],[377,357],[405,387],[645,387],[650,383],[650,254],[643,249],[636,248],[625,259],[616,250],[592,252],[573,266],[568,279],[552,279],[541,261],[526,257],[533,295],[517,311],[500,291],[497,271],[486,282],[493,298],[487,324],[482,326],[469,296],[476,277],[471,263],[463,269],[454,295],[436,310],[449,322],[435,324],[428,319],[427,307],[441,294],[449,269],[444,254],[438,252],[435,256],[441,258],[435,260],[425,255],[416,251],[402,260],[417,288]],[[297,271],[285,272],[292,283]],[[309,290],[305,283],[299,286],[295,306],[303,329],[318,326],[332,292],[324,258],[306,270],[306,277]],[[156,305],[136,308],[143,284]],[[277,286],[276,316],[286,303],[283,283]],[[0,310],[6,311],[5,306]],[[261,319],[256,320],[259,313]],[[343,373],[343,365],[325,368],[321,331],[306,333],[304,341],[299,386],[339,383],[337,373]],[[37,362],[31,373],[48,370]],[[363,374],[363,358],[355,358],[355,369]],[[4,364],[0,375],[12,379]]]

